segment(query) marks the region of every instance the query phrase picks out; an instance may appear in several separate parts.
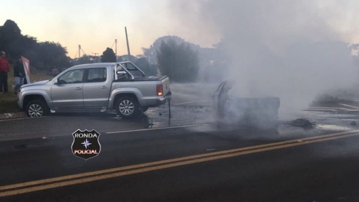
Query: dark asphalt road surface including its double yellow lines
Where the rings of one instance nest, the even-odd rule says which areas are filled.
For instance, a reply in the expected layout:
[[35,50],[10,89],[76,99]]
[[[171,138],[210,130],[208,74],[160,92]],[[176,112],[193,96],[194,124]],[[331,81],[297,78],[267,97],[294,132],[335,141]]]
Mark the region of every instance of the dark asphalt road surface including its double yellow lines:
[[[301,112],[317,126],[282,120],[268,132],[218,127],[210,105],[199,102],[175,103],[171,119],[163,106],[136,120],[0,121],[0,202],[359,201],[356,111]],[[72,154],[77,129],[100,132],[97,157]]]

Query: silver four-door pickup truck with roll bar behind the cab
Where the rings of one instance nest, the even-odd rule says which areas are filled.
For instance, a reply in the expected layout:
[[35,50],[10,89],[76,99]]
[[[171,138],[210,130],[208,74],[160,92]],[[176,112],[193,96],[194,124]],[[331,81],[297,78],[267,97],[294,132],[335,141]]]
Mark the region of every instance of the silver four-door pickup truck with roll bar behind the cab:
[[109,112],[135,117],[171,96],[168,76],[146,76],[132,62],[70,67],[51,80],[22,85],[18,106],[28,117],[50,112]]

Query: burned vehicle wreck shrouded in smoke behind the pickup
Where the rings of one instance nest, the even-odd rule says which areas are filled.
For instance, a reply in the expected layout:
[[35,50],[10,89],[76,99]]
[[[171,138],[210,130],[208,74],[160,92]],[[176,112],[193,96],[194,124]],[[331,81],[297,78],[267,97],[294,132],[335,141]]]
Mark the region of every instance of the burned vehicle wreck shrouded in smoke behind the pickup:
[[277,130],[280,99],[242,93],[235,81],[223,81],[212,95],[217,122],[225,125]]

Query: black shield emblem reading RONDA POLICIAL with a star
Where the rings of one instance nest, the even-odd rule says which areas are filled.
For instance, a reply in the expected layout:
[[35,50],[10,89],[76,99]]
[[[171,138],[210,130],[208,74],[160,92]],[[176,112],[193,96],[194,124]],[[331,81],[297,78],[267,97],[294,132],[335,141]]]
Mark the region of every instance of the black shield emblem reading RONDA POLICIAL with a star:
[[72,153],[79,158],[88,160],[100,154],[101,145],[99,142],[100,133],[92,129],[92,131],[78,129],[72,133],[74,138],[71,149]]

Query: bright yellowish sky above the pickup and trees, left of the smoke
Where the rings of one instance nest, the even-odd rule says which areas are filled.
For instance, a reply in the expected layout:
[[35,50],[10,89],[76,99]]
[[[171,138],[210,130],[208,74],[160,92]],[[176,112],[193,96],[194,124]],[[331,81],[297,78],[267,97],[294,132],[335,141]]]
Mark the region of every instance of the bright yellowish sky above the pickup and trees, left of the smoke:
[[1,2],[0,23],[11,19],[24,35],[59,42],[73,58],[80,44],[86,54],[99,53],[118,40],[118,55],[127,54],[125,26],[132,55],[142,54],[164,35],[211,47],[215,34],[199,37],[171,12],[168,0],[8,0]]

